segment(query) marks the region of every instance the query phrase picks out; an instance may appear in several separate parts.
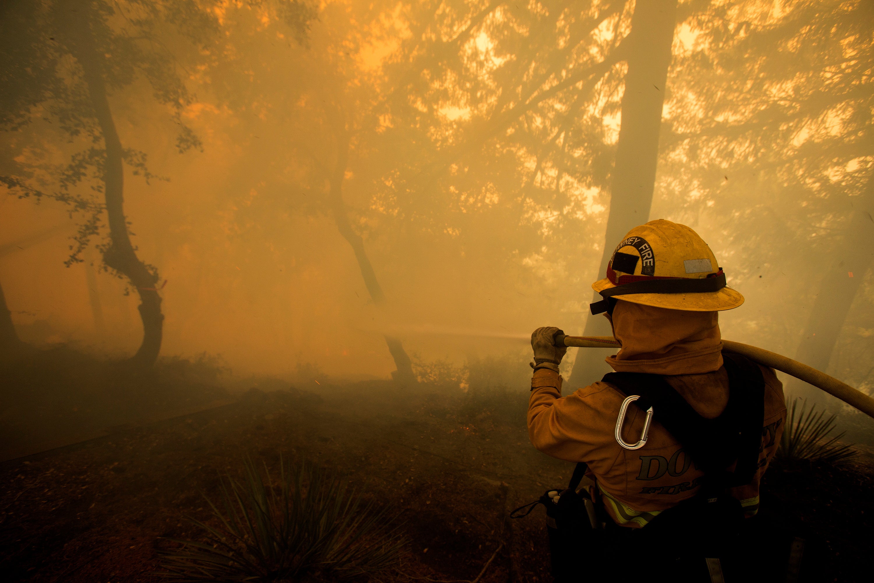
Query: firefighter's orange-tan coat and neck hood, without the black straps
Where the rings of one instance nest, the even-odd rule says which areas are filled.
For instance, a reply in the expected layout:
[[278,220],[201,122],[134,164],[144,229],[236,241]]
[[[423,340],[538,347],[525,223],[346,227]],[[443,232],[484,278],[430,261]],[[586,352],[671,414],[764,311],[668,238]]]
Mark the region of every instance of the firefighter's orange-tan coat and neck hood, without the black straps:
[[[662,375],[698,414],[713,419],[723,412],[729,386],[717,312],[654,308],[620,300],[613,316],[607,317],[622,346],[607,358],[615,371]],[[773,370],[760,368],[765,378],[765,416],[759,466],[751,482],[730,490],[747,517],[759,509],[761,476],[786,423],[782,384]],[[595,484],[592,489],[597,489],[616,524],[641,528],[663,510],[695,496],[703,473],[659,423],[657,411],[646,445],[624,449],[614,438],[614,427],[625,395],[599,381],[562,397],[562,384],[557,372],[534,372],[528,407],[531,443],[560,460],[586,462],[587,475]],[[644,413],[628,407],[622,431],[625,441],[634,443],[640,438],[643,419]]]

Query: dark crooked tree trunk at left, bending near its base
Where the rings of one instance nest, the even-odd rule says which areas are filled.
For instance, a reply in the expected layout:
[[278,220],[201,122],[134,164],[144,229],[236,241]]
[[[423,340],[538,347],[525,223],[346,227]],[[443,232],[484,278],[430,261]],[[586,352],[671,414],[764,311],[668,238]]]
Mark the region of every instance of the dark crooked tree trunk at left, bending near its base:
[[[86,5],[82,4],[81,11],[85,11]],[[134,357],[131,358],[131,362],[148,367],[155,364],[158,352],[161,350],[163,333],[161,296],[156,290],[158,276],[136,256],[134,246],[131,245],[128,237],[128,224],[124,216],[124,168],[121,140],[115,129],[112,110],[109,108],[106,83],[103,79],[102,58],[94,47],[88,17],[81,16],[80,21],[71,29],[73,36],[70,38],[68,48],[82,67],[83,79],[87,84],[91,99],[91,107],[94,109],[94,117],[100,125],[106,147],[103,184],[110,246],[103,252],[103,260],[108,267],[125,275],[140,295],[142,344]]]

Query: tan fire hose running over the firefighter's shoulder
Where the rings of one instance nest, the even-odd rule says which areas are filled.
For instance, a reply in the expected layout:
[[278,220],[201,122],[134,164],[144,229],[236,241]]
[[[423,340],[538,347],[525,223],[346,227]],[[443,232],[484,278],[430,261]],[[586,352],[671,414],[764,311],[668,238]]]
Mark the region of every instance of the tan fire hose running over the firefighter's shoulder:
[[[614,337],[608,336],[558,335],[555,340],[559,346],[564,345],[576,348],[619,348],[621,346]],[[844,403],[854,406],[862,413],[874,418],[874,399],[834,377],[829,377],[829,375],[822,371],[817,371],[807,364],[801,364],[797,360],[781,356],[776,352],[750,346],[749,344],[741,344],[731,340],[723,340],[722,344],[724,350],[735,352],[776,371],[782,371],[794,378],[799,378],[805,383],[828,392],[830,395],[841,399]]]

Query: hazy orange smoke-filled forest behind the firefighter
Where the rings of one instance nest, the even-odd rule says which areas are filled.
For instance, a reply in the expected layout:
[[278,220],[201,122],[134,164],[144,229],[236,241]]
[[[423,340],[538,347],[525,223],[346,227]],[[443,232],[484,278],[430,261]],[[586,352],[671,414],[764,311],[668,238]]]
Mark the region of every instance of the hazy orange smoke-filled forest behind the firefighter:
[[589,285],[662,218],[746,296],[724,337],[871,394],[872,22],[867,0],[4,2],[2,350],[408,383],[503,357],[524,390],[525,337],[609,333]]

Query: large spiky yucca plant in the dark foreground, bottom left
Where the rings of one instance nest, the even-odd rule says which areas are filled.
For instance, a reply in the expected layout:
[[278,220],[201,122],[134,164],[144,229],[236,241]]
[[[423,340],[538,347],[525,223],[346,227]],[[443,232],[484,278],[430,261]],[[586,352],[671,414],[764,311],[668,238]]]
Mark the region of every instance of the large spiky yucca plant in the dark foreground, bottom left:
[[216,526],[191,520],[204,542],[163,552],[164,579],[177,581],[343,580],[397,566],[398,524],[339,477],[316,465],[287,468],[272,487],[265,466],[244,464],[243,482],[222,484],[223,510],[209,498]]

